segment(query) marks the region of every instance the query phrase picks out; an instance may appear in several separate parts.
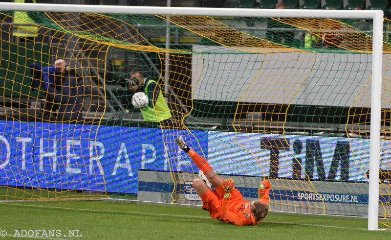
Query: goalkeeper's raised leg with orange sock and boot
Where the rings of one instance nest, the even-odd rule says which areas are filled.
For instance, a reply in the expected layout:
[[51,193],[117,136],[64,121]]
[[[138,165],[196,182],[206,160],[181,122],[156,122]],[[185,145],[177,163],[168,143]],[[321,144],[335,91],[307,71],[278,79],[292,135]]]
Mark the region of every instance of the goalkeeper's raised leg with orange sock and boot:
[[208,164],[208,162],[204,158],[202,158],[193,149],[190,149],[190,147],[183,141],[182,136],[176,138],[175,142],[183,151],[185,151],[190,156],[195,166],[197,166],[200,170],[203,171],[208,181],[215,188],[220,187],[223,184],[224,179],[218,176],[215,171],[213,171],[212,167]]

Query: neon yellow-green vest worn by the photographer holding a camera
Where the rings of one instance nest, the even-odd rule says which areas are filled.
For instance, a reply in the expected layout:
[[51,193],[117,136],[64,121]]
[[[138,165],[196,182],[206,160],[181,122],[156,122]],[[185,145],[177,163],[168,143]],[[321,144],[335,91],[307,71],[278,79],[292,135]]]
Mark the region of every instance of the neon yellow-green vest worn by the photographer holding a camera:
[[[148,86],[151,82],[156,83],[153,80],[149,80],[147,85],[144,88],[144,93],[148,95]],[[171,118],[171,112],[168,108],[166,99],[163,97],[163,93],[160,89],[159,84],[157,84],[157,87],[159,87],[159,94],[157,96],[156,104],[152,107],[147,106],[143,109],[141,109],[141,114],[143,115],[143,118],[145,121],[162,121]]]

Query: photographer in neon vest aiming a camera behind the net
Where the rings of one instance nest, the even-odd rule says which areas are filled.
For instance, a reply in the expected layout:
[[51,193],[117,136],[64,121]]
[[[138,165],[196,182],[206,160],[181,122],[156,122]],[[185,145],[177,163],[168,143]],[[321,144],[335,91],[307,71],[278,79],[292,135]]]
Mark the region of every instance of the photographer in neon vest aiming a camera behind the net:
[[127,79],[125,95],[121,97],[121,102],[127,110],[134,108],[131,97],[138,92],[145,93],[149,99],[148,106],[141,109],[145,121],[160,122],[171,118],[160,85],[152,78],[145,77],[140,68],[134,68],[130,73],[130,79]]

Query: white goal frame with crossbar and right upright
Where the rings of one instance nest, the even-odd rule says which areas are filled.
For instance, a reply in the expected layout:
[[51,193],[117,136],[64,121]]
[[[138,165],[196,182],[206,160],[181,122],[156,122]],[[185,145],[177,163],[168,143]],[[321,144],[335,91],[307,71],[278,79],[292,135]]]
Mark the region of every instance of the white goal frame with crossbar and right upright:
[[[381,81],[383,46],[383,11],[354,10],[302,10],[302,9],[238,9],[238,8],[188,8],[188,7],[147,7],[71,5],[40,3],[0,3],[1,10],[38,12],[85,12],[111,14],[153,14],[221,17],[282,17],[282,18],[340,18],[372,19],[372,73],[371,73],[371,115],[370,115],[370,166],[369,166],[369,214],[368,230],[378,230],[379,205],[379,159],[381,122]],[[375,174],[377,173],[377,174]]]

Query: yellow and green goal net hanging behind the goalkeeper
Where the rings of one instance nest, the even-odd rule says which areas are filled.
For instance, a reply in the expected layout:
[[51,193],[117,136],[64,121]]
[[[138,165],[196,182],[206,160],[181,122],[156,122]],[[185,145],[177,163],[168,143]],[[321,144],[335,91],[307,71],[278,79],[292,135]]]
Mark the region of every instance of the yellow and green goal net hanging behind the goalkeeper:
[[[174,143],[182,135],[246,199],[269,179],[272,211],[368,216],[372,19],[13,10],[0,9],[1,200],[199,205],[198,168]],[[390,227],[388,27],[372,136]],[[47,70],[59,59],[64,73]],[[171,117],[134,109],[134,67]]]

